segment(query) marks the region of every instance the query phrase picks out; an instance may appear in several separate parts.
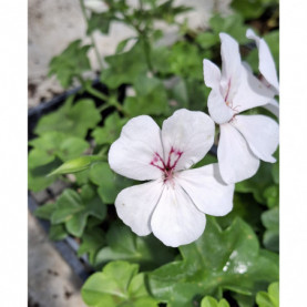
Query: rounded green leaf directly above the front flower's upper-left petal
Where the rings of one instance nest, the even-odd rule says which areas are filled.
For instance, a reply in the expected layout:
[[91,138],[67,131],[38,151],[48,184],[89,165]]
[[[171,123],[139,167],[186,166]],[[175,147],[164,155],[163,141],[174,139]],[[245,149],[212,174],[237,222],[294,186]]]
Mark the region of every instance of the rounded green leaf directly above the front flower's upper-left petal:
[[136,96],[127,96],[124,101],[124,110],[130,116],[167,114],[167,93],[158,79],[140,75],[134,88]]

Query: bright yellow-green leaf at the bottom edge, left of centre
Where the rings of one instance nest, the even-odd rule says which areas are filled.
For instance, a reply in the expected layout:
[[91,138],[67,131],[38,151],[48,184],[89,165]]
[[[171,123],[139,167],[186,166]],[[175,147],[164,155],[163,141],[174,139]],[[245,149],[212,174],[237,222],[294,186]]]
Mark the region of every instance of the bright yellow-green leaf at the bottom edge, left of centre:
[[81,294],[88,306],[95,307],[156,307],[147,294],[144,275],[139,266],[126,262],[108,264],[101,273],[93,274],[83,285]]

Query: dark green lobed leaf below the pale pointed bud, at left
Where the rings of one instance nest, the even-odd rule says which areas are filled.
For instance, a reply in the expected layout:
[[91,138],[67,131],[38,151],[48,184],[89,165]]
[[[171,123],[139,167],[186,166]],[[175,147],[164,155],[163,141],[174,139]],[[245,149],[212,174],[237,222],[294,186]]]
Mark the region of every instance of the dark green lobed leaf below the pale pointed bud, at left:
[[57,209],[51,216],[51,223],[65,223],[66,231],[70,234],[80,237],[83,234],[90,215],[102,221],[104,219],[105,214],[106,207],[100,201],[93,187],[84,185],[81,194],[78,194],[70,188],[66,188],[62,193],[57,201]]

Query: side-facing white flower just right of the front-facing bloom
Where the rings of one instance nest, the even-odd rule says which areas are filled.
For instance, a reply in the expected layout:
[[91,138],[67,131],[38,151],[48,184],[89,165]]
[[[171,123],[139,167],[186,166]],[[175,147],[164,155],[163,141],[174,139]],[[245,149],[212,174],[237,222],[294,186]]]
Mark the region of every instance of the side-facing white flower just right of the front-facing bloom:
[[274,93],[242,63],[238,43],[225,33],[219,38],[222,73],[214,63],[204,60],[204,79],[212,88],[207,102],[209,114],[221,127],[219,172],[226,183],[236,183],[252,177],[259,160],[276,161],[272,154],[278,145],[278,124],[264,115],[238,115],[266,105]]

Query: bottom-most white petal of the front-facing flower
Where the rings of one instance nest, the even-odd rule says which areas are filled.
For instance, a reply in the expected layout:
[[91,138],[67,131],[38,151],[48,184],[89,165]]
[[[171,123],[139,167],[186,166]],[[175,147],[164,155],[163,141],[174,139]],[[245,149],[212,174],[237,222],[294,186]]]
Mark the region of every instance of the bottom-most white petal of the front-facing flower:
[[177,247],[196,241],[205,229],[206,217],[192,203],[182,187],[165,185],[151,226],[165,245]]

